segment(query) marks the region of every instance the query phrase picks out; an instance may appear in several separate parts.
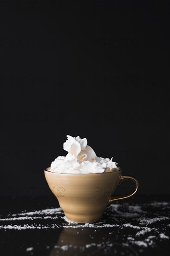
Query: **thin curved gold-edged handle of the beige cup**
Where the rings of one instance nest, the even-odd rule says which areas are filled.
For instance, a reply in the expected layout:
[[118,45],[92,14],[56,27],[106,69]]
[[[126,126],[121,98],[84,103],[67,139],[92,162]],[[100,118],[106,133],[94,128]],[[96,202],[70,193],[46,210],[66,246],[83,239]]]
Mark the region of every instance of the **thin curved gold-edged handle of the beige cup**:
[[130,194],[127,194],[127,195],[111,196],[111,198],[109,199],[109,202],[108,202],[108,204],[107,204],[107,207],[108,207],[112,202],[115,202],[115,201],[117,201],[117,200],[122,200],[122,199],[125,199],[125,198],[128,198],[128,197],[131,197],[132,195],[134,195],[134,194],[137,192],[139,183],[138,183],[137,179],[135,179],[135,178],[132,177],[132,176],[121,176],[118,185],[120,185],[122,182],[124,182],[124,181],[126,181],[126,180],[131,180],[131,181],[135,182],[135,185],[136,185],[135,189],[134,189]]

